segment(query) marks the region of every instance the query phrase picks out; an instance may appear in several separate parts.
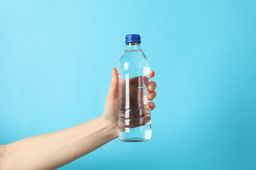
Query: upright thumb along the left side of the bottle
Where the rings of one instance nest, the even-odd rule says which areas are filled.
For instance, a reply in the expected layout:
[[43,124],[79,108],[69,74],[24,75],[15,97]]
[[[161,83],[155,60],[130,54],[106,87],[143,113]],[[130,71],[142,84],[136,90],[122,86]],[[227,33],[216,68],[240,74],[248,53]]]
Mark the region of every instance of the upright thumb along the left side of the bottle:
[[110,82],[110,86],[108,89],[108,97],[116,97],[118,95],[118,85],[119,85],[119,79],[118,79],[118,73],[116,68],[112,68],[112,78]]

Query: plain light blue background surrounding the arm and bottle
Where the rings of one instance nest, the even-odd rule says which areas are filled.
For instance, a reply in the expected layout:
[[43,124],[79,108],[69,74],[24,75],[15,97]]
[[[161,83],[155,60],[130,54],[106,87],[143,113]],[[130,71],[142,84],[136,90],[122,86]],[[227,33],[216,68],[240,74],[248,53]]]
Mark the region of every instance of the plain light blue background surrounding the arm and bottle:
[[126,34],[156,75],[152,140],[60,169],[255,170],[255,1],[0,1],[0,144],[100,116]]

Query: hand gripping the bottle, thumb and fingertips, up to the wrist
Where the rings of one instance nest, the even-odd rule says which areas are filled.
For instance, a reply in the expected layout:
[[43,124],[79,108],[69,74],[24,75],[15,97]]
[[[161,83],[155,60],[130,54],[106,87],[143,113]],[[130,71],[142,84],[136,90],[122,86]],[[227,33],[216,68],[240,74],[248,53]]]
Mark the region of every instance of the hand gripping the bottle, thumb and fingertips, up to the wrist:
[[[155,76],[154,71],[149,72],[149,78],[152,78]],[[107,97],[105,100],[105,107],[104,112],[102,114],[102,117],[110,124],[115,124],[115,133],[116,137],[118,136],[118,112],[119,112],[119,78],[118,73],[115,68],[112,68],[112,79],[110,82],[110,86],[108,88]],[[156,83],[154,81],[150,81],[148,84],[148,100],[153,100],[156,96],[155,88]],[[149,108],[150,110],[153,110],[155,108],[154,102],[149,102]]]

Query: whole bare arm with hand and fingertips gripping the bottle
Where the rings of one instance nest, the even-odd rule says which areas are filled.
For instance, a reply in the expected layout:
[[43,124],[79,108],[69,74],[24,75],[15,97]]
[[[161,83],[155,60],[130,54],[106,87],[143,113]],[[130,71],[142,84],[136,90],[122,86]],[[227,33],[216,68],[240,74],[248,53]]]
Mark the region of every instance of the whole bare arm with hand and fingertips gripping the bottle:
[[[155,73],[150,71],[149,78]],[[156,83],[148,85],[148,100],[153,100]],[[0,170],[50,170],[80,158],[118,137],[118,73],[112,68],[112,79],[100,117],[71,128],[25,138],[0,145]],[[149,102],[151,110],[155,108]]]

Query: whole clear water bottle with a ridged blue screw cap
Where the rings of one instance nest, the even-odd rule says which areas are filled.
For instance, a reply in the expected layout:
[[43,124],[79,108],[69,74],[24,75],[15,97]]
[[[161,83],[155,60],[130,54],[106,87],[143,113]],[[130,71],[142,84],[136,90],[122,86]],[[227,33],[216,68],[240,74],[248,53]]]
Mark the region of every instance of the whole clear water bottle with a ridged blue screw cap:
[[143,142],[151,139],[151,117],[147,99],[150,66],[140,48],[140,35],[126,36],[126,49],[118,62],[119,139]]

